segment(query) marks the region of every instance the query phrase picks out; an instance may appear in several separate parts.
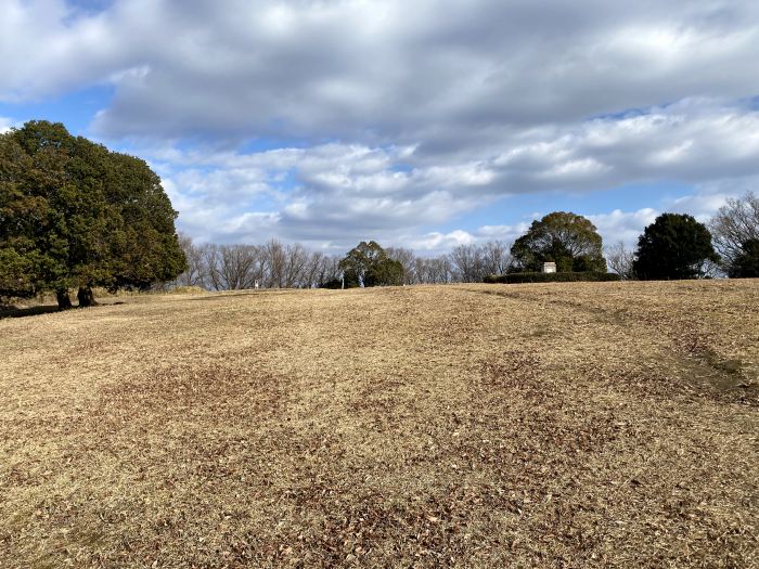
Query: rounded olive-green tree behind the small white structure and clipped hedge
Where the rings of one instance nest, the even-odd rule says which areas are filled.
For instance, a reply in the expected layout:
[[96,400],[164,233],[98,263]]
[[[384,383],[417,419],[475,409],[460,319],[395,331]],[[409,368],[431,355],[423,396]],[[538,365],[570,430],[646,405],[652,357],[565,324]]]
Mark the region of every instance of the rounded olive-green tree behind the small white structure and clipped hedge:
[[512,245],[512,270],[541,271],[544,262],[555,262],[559,272],[606,272],[603,241],[589,219],[571,212],[554,211],[533,221],[525,235]]

